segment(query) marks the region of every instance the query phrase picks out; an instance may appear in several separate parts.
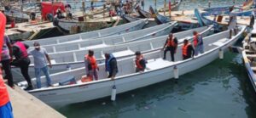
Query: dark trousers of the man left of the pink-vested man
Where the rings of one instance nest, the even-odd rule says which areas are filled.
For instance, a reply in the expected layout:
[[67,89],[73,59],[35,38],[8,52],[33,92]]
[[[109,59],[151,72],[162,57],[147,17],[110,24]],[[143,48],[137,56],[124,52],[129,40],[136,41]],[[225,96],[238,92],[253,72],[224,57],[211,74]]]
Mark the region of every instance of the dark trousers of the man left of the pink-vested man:
[[1,61],[3,65],[3,70],[5,72],[5,77],[8,79],[8,85],[9,87],[14,87],[14,79],[11,71],[11,66],[10,66],[10,60],[5,59]]

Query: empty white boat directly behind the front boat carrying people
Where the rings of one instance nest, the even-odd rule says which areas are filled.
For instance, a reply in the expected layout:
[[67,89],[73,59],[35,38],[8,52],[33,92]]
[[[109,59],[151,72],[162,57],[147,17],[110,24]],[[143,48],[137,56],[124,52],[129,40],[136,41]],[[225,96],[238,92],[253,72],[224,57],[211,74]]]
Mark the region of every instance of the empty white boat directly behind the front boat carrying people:
[[[193,31],[198,31],[200,32],[203,36],[207,36],[212,27],[200,27],[196,28],[193,30],[189,31],[183,31],[183,32],[178,32],[175,33],[174,36],[179,39],[179,42],[183,41],[183,38],[185,37],[193,37]],[[76,69],[79,67],[84,66],[84,54],[88,52],[88,49],[93,49],[95,51],[95,56],[98,61],[98,63],[102,63],[103,61],[103,53],[113,53],[116,58],[124,58],[127,56],[133,55],[137,50],[142,51],[142,53],[150,52],[154,49],[160,49],[163,47],[164,43],[166,42],[166,37],[168,35],[163,36],[163,37],[155,37],[153,39],[147,39],[147,40],[142,40],[140,43],[146,43],[152,42],[154,43],[154,47],[151,48],[150,45],[144,46],[144,47],[137,47],[137,42],[127,42],[115,46],[108,46],[108,47],[102,47],[102,48],[95,48],[95,47],[88,47],[84,48],[83,50],[79,51],[69,51],[69,52],[63,52],[63,53],[54,53],[54,54],[49,54],[52,62],[52,68],[49,69],[49,73],[56,73],[56,72],[61,72],[64,70],[69,70],[69,69]],[[150,37],[148,37],[150,38]],[[90,45],[88,42],[87,45]],[[73,46],[70,46],[72,48]],[[149,47],[149,48],[148,48]],[[33,63],[33,59],[31,59],[31,62]],[[15,78],[15,81],[20,81],[22,80],[22,76],[20,76],[20,69],[19,68],[12,68],[12,73]],[[30,76],[34,77],[34,68],[33,65],[30,65],[29,67],[29,74]]]

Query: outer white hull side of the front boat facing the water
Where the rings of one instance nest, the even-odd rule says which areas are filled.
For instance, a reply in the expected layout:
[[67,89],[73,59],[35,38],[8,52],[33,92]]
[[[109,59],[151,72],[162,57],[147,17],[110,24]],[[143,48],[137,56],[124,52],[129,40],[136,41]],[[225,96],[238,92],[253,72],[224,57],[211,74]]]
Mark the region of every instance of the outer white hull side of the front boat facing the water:
[[[222,48],[228,48],[230,45],[234,44],[237,39],[233,40],[232,42],[228,43]],[[177,69],[179,70],[178,74],[183,75],[190,71],[199,69],[204,65],[208,65],[214,59],[217,58],[218,49],[215,49],[211,53],[207,53],[206,55],[201,56],[199,58],[188,59],[176,65]],[[160,70],[152,70],[150,72],[137,73],[131,76],[122,76],[114,81],[104,80],[92,84],[61,87],[60,89],[49,89],[40,92],[30,93],[44,101],[44,103],[49,104],[51,106],[74,104],[93,100],[96,98],[104,98],[110,96],[113,83],[115,83],[117,93],[125,93],[140,87],[147,87],[160,81],[172,79],[174,77],[173,69],[174,65]]]

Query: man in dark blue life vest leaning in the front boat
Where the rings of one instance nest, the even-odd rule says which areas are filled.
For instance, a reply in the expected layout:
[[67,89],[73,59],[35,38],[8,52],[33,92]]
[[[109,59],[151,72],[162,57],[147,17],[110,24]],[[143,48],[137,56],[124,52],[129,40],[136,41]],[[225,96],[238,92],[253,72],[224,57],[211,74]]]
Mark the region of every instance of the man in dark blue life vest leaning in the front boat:
[[117,61],[112,53],[105,53],[105,59],[105,68],[108,72],[108,78],[113,80],[118,73]]

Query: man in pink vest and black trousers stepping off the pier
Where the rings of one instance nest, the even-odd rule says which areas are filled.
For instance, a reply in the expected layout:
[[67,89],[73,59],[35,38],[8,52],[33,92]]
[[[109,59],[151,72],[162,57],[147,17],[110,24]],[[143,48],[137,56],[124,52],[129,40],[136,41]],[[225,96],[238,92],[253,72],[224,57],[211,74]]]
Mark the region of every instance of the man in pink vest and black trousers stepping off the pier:
[[32,82],[31,78],[28,75],[28,67],[30,65],[30,59],[28,58],[28,54],[26,49],[29,48],[28,45],[24,44],[23,42],[12,42],[13,44],[13,54],[15,56],[15,60],[11,63],[11,65],[15,65],[20,67],[21,74],[24,76],[27,87],[25,90],[32,90]]

